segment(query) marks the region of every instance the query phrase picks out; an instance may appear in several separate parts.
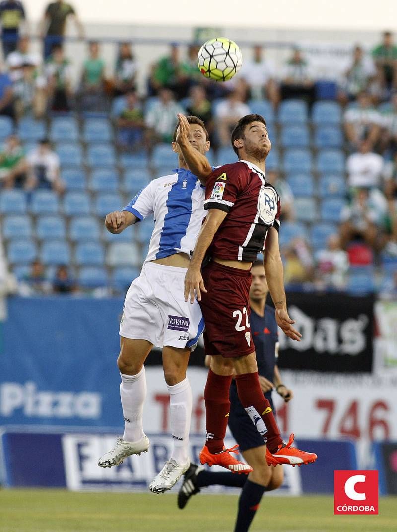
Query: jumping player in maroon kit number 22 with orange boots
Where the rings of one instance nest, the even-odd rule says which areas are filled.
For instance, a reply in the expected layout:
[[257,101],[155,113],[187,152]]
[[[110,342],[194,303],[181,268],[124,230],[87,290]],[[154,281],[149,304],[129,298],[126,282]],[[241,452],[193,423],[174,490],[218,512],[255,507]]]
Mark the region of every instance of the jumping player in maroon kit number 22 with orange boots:
[[[278,245],[280,200],[264,174],[271,149],[266,121],[259,114],[246,115],[233,130],[231,144],[239,160],[217,168],[207,178],[204,209],[208,215],[185,277],[185,300],[190,298],[192,303],[196,296],[201,302],[205,351],[211,355],[204,391],[207,436],[200,460],[231,469],[224,437],[235,372],[239,400],[267,443],[269,465],[314,462],[315,453],[291,446],[293,434],[288,443],[280,437],[270,403],[261,392],[249,322],[251,265],[266,241],[263,264],[277,323],[289,338],[300,340],[286,306]],[[185,160],[189,165],[188,157]],[[208,263],[202,269],[204,257]]]

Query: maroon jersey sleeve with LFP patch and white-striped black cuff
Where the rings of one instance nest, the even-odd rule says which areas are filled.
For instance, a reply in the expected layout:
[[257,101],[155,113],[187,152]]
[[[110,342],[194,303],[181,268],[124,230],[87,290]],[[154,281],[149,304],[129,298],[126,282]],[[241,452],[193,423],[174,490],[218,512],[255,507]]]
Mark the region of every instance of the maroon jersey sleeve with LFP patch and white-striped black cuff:
[[204,209],[229,212],[242,190],[241,171],[238,164],[225,164],[214,170],[205,185]]

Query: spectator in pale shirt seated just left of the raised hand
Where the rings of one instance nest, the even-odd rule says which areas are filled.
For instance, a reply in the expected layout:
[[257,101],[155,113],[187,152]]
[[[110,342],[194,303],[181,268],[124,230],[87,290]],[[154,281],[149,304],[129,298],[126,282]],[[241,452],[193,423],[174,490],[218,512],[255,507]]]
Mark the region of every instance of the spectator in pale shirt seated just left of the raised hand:
[[[178,113],[184,110],[173,97],[171,90],[162,88],[159,90],[159,100],[153,104],[145,117],[145,124],[148,128],[148,136],[151,143],[172,142],[175,119]],[[150,145],[148,146],[150,148]]]

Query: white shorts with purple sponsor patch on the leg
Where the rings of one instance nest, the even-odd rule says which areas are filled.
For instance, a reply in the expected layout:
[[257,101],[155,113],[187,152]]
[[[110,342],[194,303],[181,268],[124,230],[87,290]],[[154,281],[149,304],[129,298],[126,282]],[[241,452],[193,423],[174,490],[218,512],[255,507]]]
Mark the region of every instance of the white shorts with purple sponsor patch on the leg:
[[186,269],[146,262],[128,288],[119,335],[156,347],[190,347],[204,330],[200,305],[185,302]]

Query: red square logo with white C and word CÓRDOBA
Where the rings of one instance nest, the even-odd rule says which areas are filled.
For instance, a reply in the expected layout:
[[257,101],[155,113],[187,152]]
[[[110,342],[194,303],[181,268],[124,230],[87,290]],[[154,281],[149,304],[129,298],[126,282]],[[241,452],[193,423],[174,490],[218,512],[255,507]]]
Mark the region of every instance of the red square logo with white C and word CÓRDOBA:
[[334,472],[335,514],[378,514],[377,471]]

